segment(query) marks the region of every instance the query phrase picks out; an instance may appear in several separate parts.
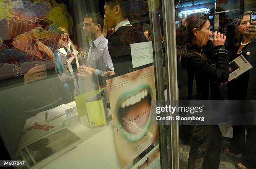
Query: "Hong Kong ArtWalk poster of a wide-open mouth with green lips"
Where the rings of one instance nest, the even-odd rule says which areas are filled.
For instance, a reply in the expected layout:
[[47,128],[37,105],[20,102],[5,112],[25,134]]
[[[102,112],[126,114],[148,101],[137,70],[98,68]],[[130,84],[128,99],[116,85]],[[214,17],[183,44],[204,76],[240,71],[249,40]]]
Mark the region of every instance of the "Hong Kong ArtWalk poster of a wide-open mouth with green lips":
[[158,139],[154,66],[107,80],[115,140],[123,169]]

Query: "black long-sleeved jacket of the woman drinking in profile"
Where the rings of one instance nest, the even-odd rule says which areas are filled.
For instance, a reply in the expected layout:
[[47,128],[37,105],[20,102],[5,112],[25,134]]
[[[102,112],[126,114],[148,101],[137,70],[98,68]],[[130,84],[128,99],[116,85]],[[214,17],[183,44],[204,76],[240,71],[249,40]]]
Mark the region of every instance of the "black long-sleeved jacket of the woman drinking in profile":
[[[228,81],[227,51],[223,49],[223,46],[215,46],[213,47],[212,56],[207,56],[207,60],[204,60],[194,51],[205,55],[202,48],[193,44],[186,45],[186,52],[181,60],[182,66],[186,67],[188,71],[195,72],[195,80],[201,91],[201,99],[208,100],[210,81],[217,84]],[[215,60],[216,66],[212,65],[209,58]]]

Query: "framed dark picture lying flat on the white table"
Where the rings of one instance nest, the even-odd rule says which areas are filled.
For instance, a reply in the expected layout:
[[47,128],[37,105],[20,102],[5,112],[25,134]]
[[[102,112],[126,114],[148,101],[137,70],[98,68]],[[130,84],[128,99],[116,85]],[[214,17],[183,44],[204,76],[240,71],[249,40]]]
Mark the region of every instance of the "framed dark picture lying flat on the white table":
[[69,129],[61,128],[21,147],[19,150],[27,163],[27,167],[37,169],[77,147],[80,141],[81,139]]

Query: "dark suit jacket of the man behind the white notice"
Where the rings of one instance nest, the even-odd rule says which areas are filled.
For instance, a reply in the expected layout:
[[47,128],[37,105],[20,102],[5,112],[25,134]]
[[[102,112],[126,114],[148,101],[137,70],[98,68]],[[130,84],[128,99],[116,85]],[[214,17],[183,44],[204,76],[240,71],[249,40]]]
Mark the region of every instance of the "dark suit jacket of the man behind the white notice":
[[[108,50],[116,75],[138,70],[134,69],[131,58],[131,44],[147,42],[143,33],[132,26],[119,27],[108,39]],[[140,67],[141,68],[141,67]]]

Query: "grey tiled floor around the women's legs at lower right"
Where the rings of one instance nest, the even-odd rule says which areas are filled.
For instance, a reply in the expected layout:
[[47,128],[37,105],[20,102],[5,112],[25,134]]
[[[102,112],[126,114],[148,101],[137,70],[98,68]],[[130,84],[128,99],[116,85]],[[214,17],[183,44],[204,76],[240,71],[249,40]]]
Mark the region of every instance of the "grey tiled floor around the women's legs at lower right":
[[[223,139],[222,142],[222,150],[220,155],[220,167],[219,169],[238,169],[237,164],[241,160],[241,154],[236,156],[228,156],[226,155],[223,150],[228,147],[229,140]],[[179,142],[179,168],[180,169],[187,169],[187,162],[189,156],[189,145],[182,144],[182,141]]]

